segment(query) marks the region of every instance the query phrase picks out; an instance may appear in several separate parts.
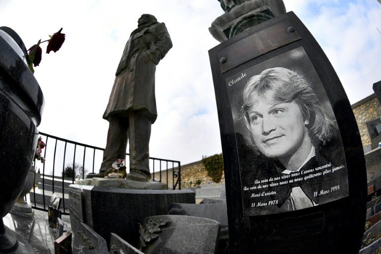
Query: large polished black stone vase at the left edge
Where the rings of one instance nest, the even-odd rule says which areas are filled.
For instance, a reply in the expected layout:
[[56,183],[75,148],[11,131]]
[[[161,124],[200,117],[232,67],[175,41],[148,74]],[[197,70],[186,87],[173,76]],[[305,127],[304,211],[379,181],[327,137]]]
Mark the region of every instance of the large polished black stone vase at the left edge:
[[33,253],[2,218],[19,196],[32,164],[44,108],[41,88],[27,65],[20,37],[0,27],[0,254]]

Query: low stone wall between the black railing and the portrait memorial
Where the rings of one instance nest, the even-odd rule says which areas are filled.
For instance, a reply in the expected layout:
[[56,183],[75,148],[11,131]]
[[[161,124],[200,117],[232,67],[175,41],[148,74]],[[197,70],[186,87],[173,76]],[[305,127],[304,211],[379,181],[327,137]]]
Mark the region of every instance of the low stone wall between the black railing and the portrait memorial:
[[[178,168],[174,168],[175,172]],[[151,174],[152,175],[152,174]],[[167,171],[161,172],[162,183],[167,183]],[[155,173],[155,179],[160,179],[160,174]],[[198,181],[199,180],[199,181]],[[176,181],[176,178],[175,178]],[[181,189],[197,187],[207,182],[214,183],[211,177],[208,177],[208,172],[206,171],[204,165],[201,161],[196,161],[190,164],[181,166]],[[173,186],[172,169],[168,170],[168,188]],[[222,175],[221,183],[225,183],[225,175]],[[177,188],[176,188],[177,189]]]

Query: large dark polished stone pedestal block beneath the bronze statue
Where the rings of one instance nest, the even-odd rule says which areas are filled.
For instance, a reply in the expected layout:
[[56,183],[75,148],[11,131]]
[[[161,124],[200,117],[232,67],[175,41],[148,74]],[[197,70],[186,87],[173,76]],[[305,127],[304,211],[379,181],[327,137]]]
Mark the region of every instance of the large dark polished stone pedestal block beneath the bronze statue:
[[[119,185],[129,180],[121,180],[95,180],[98,186],[69,186],[70,223],[74,233],[80,222],[84,222],[102,236],[108,246],[111,233],[115,233],[137,247],[138,223],[143,224],[146,217],[167,214],[171,203],[195,203],[195,193],[190,190],[127,189]],[[152,184],[157,183],[149,182]]]

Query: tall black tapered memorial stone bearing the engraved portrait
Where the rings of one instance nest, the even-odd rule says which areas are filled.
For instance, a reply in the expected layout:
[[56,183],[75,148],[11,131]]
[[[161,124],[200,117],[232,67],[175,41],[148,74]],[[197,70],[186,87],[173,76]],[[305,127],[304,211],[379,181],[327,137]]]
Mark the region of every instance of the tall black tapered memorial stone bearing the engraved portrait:
[[230,253],[358,253],[367,197],[361,138],[311,33],[288,12],[209,57]]

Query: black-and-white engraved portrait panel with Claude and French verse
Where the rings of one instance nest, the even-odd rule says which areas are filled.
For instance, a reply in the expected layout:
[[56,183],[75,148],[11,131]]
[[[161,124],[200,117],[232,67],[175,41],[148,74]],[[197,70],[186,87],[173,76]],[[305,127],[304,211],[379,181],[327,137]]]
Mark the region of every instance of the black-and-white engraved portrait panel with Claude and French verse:
[[303,47],[240,71],[226,85],[245,216],[306,209],[348,196],[333,105]]

